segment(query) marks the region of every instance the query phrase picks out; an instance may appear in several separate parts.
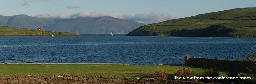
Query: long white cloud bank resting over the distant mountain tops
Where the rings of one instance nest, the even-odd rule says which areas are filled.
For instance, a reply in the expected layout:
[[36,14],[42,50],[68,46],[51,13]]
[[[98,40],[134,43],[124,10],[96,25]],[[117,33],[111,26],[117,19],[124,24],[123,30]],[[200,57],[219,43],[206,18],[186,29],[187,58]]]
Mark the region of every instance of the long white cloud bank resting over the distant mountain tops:
[[37,14],[34,17],[39,18],[48,18],[48,19],[75,19],[80,17],[103,17],[103,16],[111,16],[114,18],[119,19],[128,19],[133,20],[135,22],[143,23],[143,24],[151,24],[151,23],[158,23],[165,20],[176,19],[176,17],[172,17],[170,14],[157,14],[157,13],[150,13],[150,14],[136,14],[135,16],[129,14],[118,15],[116,13],[101,13],[101,12],[80,12],[77,14],[72,13],[44,13],[44,14]]

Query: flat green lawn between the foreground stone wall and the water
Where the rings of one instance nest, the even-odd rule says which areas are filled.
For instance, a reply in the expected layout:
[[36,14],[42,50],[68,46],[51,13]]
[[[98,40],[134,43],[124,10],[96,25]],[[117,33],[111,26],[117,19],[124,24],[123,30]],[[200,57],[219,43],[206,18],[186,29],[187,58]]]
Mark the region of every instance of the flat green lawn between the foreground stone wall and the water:
[[[164,70],[172,78],[181,66],[169,65],[118,65],[118,64],[0,64],[0,75],[45,75],[72,74],[82,76],[117,76],[151,78],[158,69]],[[196,73],[203,67],[192,67]],[[227,70],[218,70],[225,74]],[[247,74],[245,72],[241,72]]]

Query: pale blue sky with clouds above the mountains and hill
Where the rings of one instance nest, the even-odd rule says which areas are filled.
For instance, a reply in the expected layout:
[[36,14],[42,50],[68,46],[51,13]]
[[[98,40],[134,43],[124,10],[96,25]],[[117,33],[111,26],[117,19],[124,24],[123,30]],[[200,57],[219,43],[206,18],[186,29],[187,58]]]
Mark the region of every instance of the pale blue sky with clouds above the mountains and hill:
[[256,0],[1,0],[0,15],[48,19],[112,16],[149,24],[244,7],[256,7]]

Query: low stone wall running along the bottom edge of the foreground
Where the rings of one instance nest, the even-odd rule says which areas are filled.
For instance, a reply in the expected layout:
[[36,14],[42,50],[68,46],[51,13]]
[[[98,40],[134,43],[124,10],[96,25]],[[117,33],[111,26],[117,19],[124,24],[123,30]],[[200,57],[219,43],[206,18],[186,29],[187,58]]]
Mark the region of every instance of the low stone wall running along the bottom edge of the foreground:
[[127,78],[110,76],[72,76],[72,75],[15,75],[0,76],[0,84],[210,84],[180,80],[153,78]]

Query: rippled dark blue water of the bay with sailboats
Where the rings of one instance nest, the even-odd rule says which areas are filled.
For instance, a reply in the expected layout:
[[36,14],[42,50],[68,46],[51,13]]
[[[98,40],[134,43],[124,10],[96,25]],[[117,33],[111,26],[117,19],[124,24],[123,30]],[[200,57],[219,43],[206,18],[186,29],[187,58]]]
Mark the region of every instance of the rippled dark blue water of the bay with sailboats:
[[236,59],[256,38],[156,36],[0,36],[0,62],[183,63],[184,56]]

